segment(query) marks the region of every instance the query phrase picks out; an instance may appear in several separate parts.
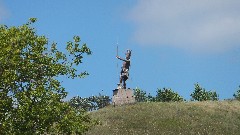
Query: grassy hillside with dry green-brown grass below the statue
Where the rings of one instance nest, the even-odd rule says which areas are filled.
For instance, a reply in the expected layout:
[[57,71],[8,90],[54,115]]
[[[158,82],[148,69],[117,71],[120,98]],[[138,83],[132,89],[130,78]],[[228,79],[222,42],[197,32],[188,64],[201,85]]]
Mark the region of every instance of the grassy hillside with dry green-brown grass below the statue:
[[89,135],[240,134],[240,102],[136,103],[91,112]]

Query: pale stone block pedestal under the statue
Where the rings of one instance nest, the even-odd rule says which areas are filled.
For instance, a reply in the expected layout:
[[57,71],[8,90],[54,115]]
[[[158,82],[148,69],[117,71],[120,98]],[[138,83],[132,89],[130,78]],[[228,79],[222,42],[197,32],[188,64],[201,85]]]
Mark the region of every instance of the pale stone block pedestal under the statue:
[[123,105],[135,102],[133,90],[131,89],[115,89],[113,90],[113,105]]

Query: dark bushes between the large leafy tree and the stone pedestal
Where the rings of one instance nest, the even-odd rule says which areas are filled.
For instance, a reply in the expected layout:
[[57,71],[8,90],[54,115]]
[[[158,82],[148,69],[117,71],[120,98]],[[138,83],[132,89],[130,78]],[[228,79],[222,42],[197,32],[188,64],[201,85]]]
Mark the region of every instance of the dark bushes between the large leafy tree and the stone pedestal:
[[74,108],[92,111],[108,106],[110,104],[110,98],[109,96],[104,96],[101,94],[99,94],[99,96],[91,96],[88,98],[76,96],[73,97],[69,102]]

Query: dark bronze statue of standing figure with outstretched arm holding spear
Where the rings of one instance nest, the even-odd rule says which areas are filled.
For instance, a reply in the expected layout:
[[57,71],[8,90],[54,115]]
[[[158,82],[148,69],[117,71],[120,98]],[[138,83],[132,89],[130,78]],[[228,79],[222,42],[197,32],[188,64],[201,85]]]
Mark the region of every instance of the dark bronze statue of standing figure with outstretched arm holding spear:
[[127,50],[125,54],[126,54],[126,59],[116,56],[119,60],[123,61],[122,69],[120,72],[120,83],[119,83],[119,85],[122,84],[123,89],[126,89],[126,80],[129,77],[131,50]]

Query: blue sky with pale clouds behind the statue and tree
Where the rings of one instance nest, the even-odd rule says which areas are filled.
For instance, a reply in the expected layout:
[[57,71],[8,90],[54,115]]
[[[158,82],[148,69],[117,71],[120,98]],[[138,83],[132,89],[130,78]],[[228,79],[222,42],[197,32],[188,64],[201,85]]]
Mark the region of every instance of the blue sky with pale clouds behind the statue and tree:
[[74,35],[93,54],[79,70],[84,79],[61,77],[68,99],[111,96],[119,82],[119,55],[132,50],[127,87],[155,96],[172,88],[190,99],[194,84],[232,98],[240,85],[239,0],[0,0],[0,24],[34,27],[64,49]]

